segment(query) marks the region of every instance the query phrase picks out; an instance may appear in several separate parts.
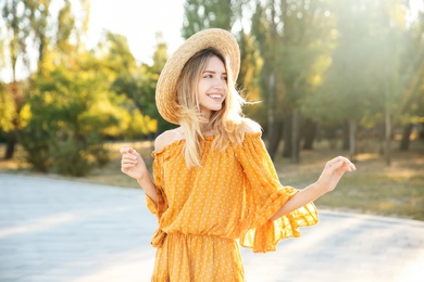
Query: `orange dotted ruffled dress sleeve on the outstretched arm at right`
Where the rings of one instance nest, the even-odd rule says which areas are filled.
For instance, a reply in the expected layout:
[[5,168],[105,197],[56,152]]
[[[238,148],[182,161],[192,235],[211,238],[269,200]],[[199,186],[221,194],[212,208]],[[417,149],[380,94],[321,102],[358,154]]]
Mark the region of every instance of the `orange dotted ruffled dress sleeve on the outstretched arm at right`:
[[261,133],[246,133],[235,148],[245,172],[246,210],[242,216],[240,245],[254,253],[275,251],[279,240],[300,236],[299,227],[317,222],[317,211],[311,202],[276,220],[270,218],[298,190],[279,183]]

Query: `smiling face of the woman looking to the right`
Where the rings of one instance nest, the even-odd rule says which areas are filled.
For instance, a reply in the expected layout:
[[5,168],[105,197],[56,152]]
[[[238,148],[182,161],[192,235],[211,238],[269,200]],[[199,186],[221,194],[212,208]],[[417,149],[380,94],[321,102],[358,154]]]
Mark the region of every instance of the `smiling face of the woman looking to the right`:
[[201,74],[198,89],[200,111],[207,118],[212,111],[220,111],[227,94],[227,73],[224,63],[217,56],[211,56],[207,61]]

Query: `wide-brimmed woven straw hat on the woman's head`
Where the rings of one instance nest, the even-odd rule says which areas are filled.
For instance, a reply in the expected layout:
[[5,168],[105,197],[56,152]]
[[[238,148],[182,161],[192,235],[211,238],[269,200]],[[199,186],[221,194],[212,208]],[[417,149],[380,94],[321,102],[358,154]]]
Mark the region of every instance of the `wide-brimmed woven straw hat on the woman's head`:
[[187,61],[202,49],[214,48],[230,66],[233,81],[237,80],[240,69],[240,50],[236,38],[227,30],[210,28],[188,38],[167,60],[157,85],[157,106],[161,116],[171,124],[178,125],[176,85]]

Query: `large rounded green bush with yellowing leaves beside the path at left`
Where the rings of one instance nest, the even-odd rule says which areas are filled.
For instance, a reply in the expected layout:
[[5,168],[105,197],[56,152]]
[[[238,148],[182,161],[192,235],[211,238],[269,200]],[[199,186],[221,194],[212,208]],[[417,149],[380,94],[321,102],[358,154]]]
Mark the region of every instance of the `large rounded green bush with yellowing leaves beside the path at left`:
[[83,176],[108,161],[104,132],[117,124],[108,104],[107,85],[96,72],[63,66],[38,77],[32,95],[33,118],[22,131],[27,161],[41,171]]

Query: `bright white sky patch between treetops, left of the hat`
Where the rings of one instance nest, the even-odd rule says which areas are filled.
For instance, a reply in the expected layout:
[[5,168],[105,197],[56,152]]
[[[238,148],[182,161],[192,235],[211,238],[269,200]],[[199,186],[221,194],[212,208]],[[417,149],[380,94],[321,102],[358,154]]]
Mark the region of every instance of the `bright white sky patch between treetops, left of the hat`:
[[90,0],[88,47],[93,47],[102,30],[127,37],[134,56],[151,63],[158,31],[162,33],[169,52],[183,42],[184,0]]

